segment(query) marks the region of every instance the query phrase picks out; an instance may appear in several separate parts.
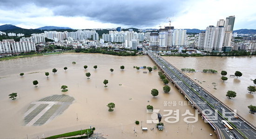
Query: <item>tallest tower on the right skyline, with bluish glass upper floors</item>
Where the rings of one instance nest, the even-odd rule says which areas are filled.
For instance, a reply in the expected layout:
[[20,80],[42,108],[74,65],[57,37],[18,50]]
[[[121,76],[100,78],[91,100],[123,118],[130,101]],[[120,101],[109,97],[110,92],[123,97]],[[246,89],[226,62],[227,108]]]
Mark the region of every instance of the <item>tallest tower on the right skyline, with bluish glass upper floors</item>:
[[235,23],[235,16],[229,16],[226,18],[225,25],[224,25],[224,28],[225,28],[224,40],[223,40],[222,46],[228,46],[228,47],[230,46],[234,23]]

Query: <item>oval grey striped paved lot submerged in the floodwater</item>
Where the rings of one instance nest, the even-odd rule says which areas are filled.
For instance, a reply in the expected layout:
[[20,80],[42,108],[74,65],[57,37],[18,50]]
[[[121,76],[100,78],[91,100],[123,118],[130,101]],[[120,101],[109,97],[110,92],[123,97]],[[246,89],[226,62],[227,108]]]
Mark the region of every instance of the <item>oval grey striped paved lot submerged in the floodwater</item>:
[[34,101],[24,114],[24,125],[41,126],[65,111],[73,101],[74,98],[68,95],[52,95]]

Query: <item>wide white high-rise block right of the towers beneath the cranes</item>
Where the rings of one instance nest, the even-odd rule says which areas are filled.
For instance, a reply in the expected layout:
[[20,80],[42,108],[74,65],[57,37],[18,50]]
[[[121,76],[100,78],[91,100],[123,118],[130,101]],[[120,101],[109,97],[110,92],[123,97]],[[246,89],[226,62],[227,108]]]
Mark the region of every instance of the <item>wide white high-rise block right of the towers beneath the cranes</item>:
[[183,46],[186,42],[187,30],[175,29],[173,36],[173,45],[174,46]]

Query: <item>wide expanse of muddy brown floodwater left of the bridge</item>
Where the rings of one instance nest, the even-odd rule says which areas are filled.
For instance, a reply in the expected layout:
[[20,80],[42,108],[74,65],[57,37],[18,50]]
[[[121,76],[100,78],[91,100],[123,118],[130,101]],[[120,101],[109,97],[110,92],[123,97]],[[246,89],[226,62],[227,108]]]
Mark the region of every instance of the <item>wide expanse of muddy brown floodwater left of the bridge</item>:
[[[72,64],[73,61],[76,64]],[[88,69],[83,69],[84,65],[88,65]],[[94,65],[98,65],[97,70],[94,70]],[[124,70],[120,69],[121,65],[125,66]],[[185,116],[182,114],[186,110],[195,114],[195,109],[179,104],[179,101],[185,99],[173,84],[169,84],[171,87],[169,93],[163,92],[164,85],[157,74],[158,70],[145,74],[143,71],[147,69],[137,71],[133,68],[144,65],[153,66],[154,63],[148,56],[118,57],[84,53],[1,61],[0,138],[37,139],[42,138],[43,135],[48,137],[92,126],[96,128],[94,133],[101,133],[107,139],[216,139],[212,127],[204,123],[200,115],[195,123],[188,125],[183,121]],[[66,66],[67,71],[63,69]],[[56,74],[52,73],[53,68],[58,69]],[[110,68],[114,69],[113,74],[109,71]],[[25,75],[19,76],[20,72]],[[48,79],[45,72],[50,73]],[[90,79],[85,76],[86,72],[91,73]],[[225,84],[241,81],[244,78],[246,76],[234,81],[232,78]],[[108,79],[107,88],[104,88],[104,79]],[[34,80],[39,82],[37,88],[32,83]],[[244,81],[236,83],[239,85],[242,82]],[[67,85],[68,91],[61,92],[61,85]],[[220,86],[217,86],[218,90]],[[159,95],[155,98],[150,94],[153,88],[159,90]],[[18,93],[15,101],[8,99],[8,95],[13,92]],[[30,103],[51,95],[62,94],[74,97],[73,103],[62,114],[42,126],[24,126],[23,115]],[[244,95],[247,100],[253,99],[246,92]],[[176,101],[177,104],[164,106],[164,101]],[[106,105],[109,102],[115,103],[113,112],[108,112]],[[167,114],[163,110],[179,109],[180,120],[176,123],[168,123],[164,120],[167,116],[163,117],[165,129],[156,130],[155,124],[146,123],[146,106],[149,104],[154,109],[160,109],[161,114]],[[140,125],[135,125],[135,120],[139,120]],[[141,121],[143,127],[148,127],[148,131],[142,132]],[[153,127],[154,130],[150,130]],[[213,136],[209,136],[209,133]]]

